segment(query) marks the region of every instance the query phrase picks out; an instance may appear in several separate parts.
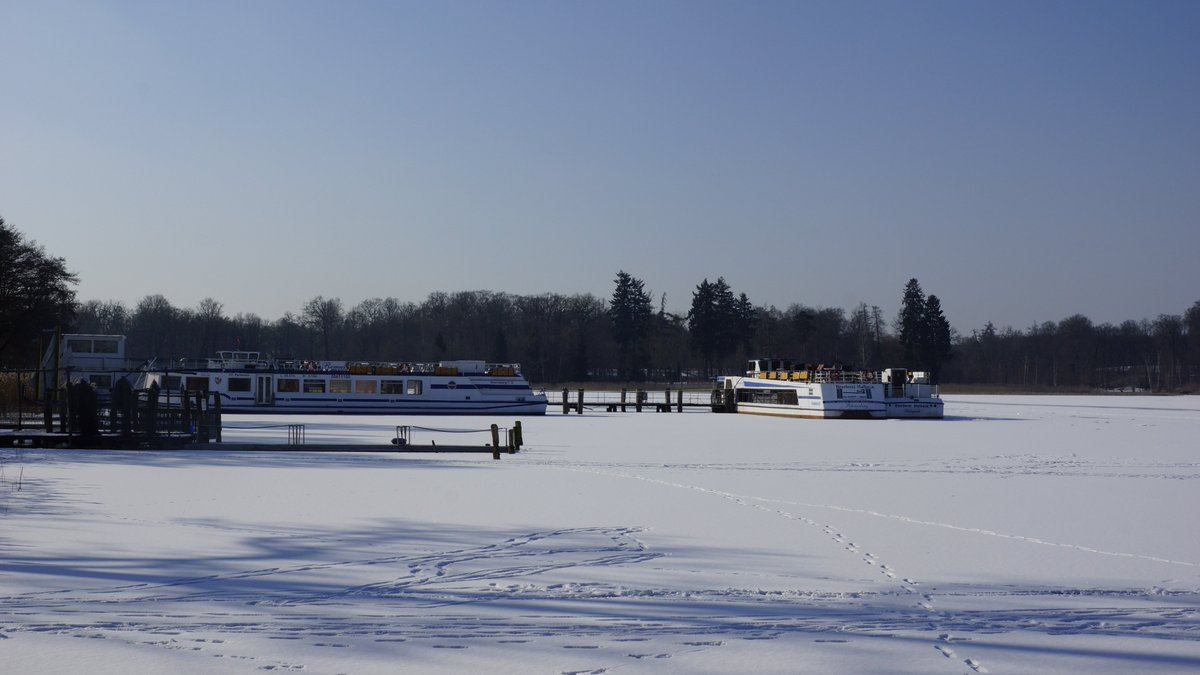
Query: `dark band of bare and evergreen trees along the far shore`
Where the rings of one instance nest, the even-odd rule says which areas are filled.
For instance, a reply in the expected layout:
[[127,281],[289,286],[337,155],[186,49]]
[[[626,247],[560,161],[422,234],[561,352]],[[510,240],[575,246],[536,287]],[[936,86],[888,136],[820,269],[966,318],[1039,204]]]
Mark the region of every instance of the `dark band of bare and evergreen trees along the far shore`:
[[1200,383],[1200,301],[1182,315],[1120,325],[1082,315],[1027,329],[990,322],[958,335],[940,299],[916,279],[892,321],[878,306],[851,311],[793,303],[755,305],[721,276],[692,292],[686,313],[658,307],[642,280],[622,270],[612,295],[436,292],[426,299],[371,298],[347,306],[318,295],[278,319],[228,316],[205,298],[179,307],[149,294],[77,301],[78,279],[0,219],[0,368],[38,360],[44,329],[121,334],[126,353],[163,364],[217,350],[316,360],[434,362],[484,358],[520,363],[541,384],[584,381],[678,382],[740,372],[745,359],[788,357],[811,364],[928,370],[942,383],[1021,389],[1135,387],[1194,390]]

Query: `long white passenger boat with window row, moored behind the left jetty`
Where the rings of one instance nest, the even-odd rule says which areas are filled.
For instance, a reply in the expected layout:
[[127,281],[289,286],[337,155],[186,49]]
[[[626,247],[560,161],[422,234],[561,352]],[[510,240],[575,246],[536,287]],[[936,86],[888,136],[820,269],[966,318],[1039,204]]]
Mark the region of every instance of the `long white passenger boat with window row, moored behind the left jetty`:
[[148,371],[142,387],[209,392],[232,413],[545,414],[516,364],[316,362],[217,352],[203,364]]

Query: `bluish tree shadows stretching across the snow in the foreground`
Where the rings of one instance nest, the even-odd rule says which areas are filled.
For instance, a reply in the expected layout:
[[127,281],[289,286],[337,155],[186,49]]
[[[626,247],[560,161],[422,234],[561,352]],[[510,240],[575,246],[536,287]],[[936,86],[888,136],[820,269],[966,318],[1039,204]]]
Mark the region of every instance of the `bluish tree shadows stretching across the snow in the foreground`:
[[[179,525],[247,530],[227,520]],[[946,632],[971,637],[964,649],[1200,668],[1200,656],[1152,646],[1157,640],[1200,641],[1200,593],[1190,591],[940,585],[937,597],[968,596],[972,609],[928,611],[899,589],[841,593],[680,587],[678,581],[690,577],[679,574],[665,587],[662,563],[653,561],[666,556],[721,561],[722,569],[714,572],[727,574],[755,569],[769,562],[758,556],[773,554],[650,549],[636,527],[496,528],[391,519],[352,530],[257,528],[232,546],[238,552],[223,556],[192,550],[180,550],[178,558],[8,555],[2,565],[10,590],[0,596],[0,626],[216,631],[310,640],[330,634],[439,640],[835,635],[931,644]],[[608,569],[619,572],[613,577]],[[31,585],[30,577],[49,590],[12,592],[12,584]],[[20,620],[11,619],[16,616]],[[1103,643],[1026,647],[989,639],[1004,633],[1138,638],[1146,640],[1146,649],[1109,649]]]

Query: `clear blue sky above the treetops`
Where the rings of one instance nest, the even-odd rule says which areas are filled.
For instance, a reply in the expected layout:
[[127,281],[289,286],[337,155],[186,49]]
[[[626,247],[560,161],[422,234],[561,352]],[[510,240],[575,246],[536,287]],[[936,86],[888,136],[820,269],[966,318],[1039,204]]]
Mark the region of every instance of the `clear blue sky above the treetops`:
[[0,0],[0,216],[80,299],[432,291],[970,333],[1200,299],[1200,2]]

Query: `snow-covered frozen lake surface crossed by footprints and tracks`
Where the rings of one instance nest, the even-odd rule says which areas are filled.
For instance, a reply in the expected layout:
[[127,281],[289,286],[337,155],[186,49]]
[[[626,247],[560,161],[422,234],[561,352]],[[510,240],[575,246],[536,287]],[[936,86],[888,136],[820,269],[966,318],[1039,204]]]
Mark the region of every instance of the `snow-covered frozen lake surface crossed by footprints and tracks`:
[[0,449],[0,671],[1200,669],[1194,396],[522,422],[500,461]]

